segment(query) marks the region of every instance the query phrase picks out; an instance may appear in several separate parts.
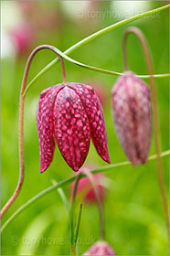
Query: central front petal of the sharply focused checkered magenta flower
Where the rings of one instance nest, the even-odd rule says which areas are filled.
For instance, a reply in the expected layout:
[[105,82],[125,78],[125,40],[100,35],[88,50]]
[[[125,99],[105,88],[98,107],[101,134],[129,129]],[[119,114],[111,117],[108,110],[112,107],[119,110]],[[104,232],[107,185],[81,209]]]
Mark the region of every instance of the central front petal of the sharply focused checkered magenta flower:
[[66,86],[54,105],[54,133],[58,148],[68,165],[79,171],[90,147],[90,124],[80,97]]

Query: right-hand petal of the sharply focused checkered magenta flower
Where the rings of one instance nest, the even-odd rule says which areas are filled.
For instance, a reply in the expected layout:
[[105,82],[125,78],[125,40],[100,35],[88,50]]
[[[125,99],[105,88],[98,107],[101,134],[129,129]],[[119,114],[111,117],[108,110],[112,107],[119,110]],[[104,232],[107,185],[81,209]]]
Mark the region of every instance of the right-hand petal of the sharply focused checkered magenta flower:
[[69,83],[69,87],[80,96],[80,100],[89,118],[91,139],[98,154],[101,155],[104,161],[110,164],[106,125],[99,98],[89,85]]

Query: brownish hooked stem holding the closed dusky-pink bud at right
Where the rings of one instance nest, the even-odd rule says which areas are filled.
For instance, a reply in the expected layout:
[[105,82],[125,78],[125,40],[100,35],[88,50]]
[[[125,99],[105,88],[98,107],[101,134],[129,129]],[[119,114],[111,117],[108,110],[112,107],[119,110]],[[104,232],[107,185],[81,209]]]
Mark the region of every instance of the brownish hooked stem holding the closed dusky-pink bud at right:
[[153,102],[153,119],[154,119],[154,144],[155,144],[155,151],[156,151],[156,159],[157,159],[157,171],[158,171],[158,180],[161,189],[161,196],[163,199],[163,205],[165,209],[165,219],[167,224],[167,230],[169,234],[169,213],[168,213],[168,206],[165,196],[165,183],[164,183],[164,174],[163,174],[163,165],[161,161],[161,143],[160,143],[160,132],[159,132],[159,121],[158,121],[158,107],[157,107],[157,96],[156,96],[156,87],[154,82],[154,65],[152,60],[152,55],[150,48],[147,44],[146,38],[143,36],[142,31],[137,27],[129,27],[124,32],[124,37],[122,39],[122,48],[123,48],[123,58],[124,58],[124,69],[128,70],[128,61],[127,61],[127,53],[126,53],[126,44],[127,44],[127,37],[129,34],[133,33],[137,36],[142,44],[144,56],[146,59],[146,63],[148,66],[148,72],[150,74],[150,84],[151,84],[151,95],[152,95],[152,102]]

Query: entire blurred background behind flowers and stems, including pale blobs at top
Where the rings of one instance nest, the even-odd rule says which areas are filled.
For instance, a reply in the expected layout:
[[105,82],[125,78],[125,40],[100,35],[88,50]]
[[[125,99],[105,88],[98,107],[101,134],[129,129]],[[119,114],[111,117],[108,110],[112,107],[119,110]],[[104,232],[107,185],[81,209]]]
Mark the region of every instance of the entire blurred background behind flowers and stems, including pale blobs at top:
[[[24,3],[23,3],[24,2]],[[41,44],[51,44],[64,51],[83,37],[107,27],[127,16],[167,4],[167,1],[1,1],[1,122],[2,172],[1,206],[16,189],[18,161],[18,107],[23,72],[30,51]],[[147,2],[147,3],[146,3]],[[152,49],[155,73],[169,70],[168,10],[135,21],[128,26],[140,27]],[[73,59],[115,71],[123,71],[122,34],[126,27],[116,28],[73,53]],[[29,80],[44,68],[55,55],[44,50],[34,59]],[[137,38],[128,41],[131,69],[147,74],[143,51]],[[111,162],[126,161],[118,142],[113,122],[111,90],[117,77],[92,72],[65,61],[67,78],[94,85],[101,95],[106,120]],[[29,198],[46,187],[51,179],[61,181],[73,176],[56,147],[48,170],[39,173],[36,112],[41,91],[62,81],[59,65],[49,69],[27,92],[25,115],[26,176],[21,194],[6,212],[2,224]],[[169,80],[157,79],[162,151],[169,148],[168,106]],[[154,155],[154,140],[150,155]],[[169,195],[168,157],[164,157],[166,195]],[[106,165],[93,144],[84,166]],[[104,201],[106,240],[118,255],[168,255],[165,215],[157,180],[156,161],[146,165],[111,168],[106,176],[112,185]],[[64,187],[69,198],[69,186]],[[99,219],[96,205],[84,205],[80,223],[79,254],[99,240]],[[68,219],[63,203],[54,191],[22,212],[2,234],[4,255],[68,255]]]

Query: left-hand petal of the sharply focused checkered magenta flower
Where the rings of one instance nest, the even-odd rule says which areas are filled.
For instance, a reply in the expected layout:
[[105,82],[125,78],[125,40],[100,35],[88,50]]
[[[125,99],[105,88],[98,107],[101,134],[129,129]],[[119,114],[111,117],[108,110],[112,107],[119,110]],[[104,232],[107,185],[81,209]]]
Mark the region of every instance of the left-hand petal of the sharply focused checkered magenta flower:
[[40,172],[48,169],[55,149],[53,134],[53,106],[62,84],[55,85],[42,91],[37,106],[37,133],[40,151]]

